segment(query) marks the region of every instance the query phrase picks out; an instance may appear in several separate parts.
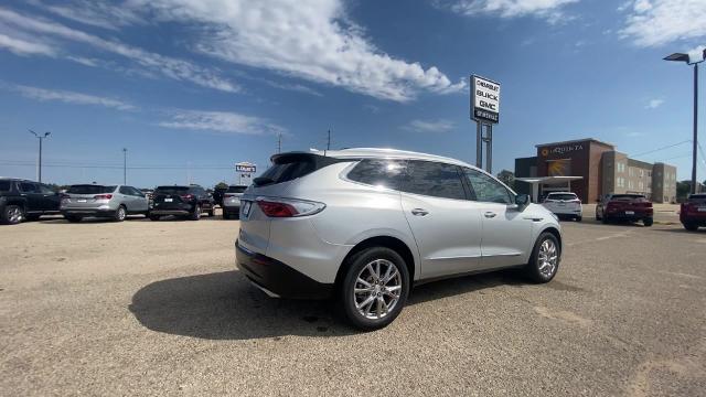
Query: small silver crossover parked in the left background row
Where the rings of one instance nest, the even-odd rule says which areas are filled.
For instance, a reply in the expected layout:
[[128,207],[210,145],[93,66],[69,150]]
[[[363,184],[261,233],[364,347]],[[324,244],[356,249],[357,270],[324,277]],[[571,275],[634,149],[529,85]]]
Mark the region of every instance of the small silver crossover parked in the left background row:
[[96,216],[122,222],[128,214],[148,215],[149,201],[126,185],[76,184],[62,195],[60,211],[68,222]]

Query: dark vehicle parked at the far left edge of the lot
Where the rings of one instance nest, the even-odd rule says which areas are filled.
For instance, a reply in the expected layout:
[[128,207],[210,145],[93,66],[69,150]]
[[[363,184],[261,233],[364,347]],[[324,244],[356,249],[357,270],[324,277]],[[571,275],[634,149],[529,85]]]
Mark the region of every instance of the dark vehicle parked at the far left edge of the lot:
[[58,214],[60,196],[50,186],[13,178],[0,178],[0,222],[14,225]]

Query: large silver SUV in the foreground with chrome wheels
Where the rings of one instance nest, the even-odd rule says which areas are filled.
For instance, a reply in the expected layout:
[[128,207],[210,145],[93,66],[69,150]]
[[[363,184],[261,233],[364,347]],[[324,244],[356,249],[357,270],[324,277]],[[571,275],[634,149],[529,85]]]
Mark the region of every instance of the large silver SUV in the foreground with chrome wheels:
[[561,229],[492,175],[462,161],[389,149],[290,152],[240,198],[236,261],[271,297],[336,298],[355,326],[378,329],[413,285],[559,266]]

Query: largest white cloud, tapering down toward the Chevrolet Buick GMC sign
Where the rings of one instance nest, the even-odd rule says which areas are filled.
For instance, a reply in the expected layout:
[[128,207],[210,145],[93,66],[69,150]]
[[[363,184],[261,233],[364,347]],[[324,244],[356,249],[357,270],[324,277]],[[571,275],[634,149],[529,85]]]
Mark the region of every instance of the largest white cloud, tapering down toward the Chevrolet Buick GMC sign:
[[377,49],[342,0],[133,0],[158,19],[202,28],[193,47],[226,62],[405,101],[420,92],[460,92],[437,67]]

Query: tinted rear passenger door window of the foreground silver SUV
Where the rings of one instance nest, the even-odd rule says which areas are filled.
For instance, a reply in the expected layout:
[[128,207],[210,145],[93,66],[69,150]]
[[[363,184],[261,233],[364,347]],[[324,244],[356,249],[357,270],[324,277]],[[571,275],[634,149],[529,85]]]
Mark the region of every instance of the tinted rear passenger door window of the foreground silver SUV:
[[409,161],[403,191],[442,198],[466,200],[463,182],[457,165],[431,161]]

